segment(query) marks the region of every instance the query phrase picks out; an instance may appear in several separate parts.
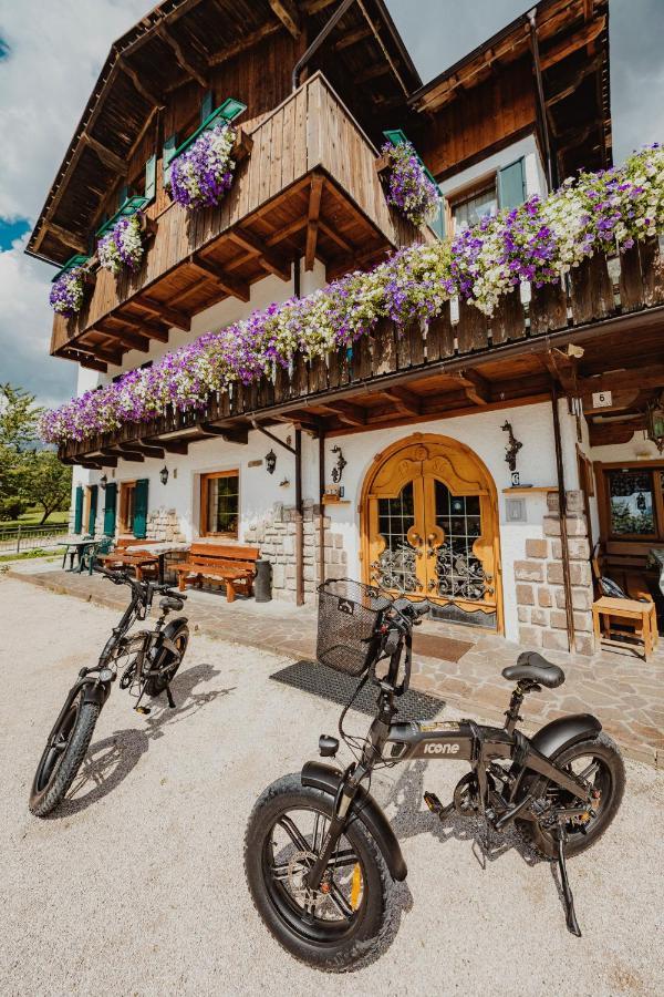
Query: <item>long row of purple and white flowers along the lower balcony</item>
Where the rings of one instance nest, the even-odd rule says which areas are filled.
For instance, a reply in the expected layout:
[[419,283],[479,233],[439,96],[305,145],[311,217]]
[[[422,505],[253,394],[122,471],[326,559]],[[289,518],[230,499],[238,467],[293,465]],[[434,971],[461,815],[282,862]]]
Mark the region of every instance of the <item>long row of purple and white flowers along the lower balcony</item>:
[[370,273],[346,274],[305,298],[207,332],[152,368],[45,413],[42,435],[63,443],[154,419],[168,405],[201,409],[211,392],[290,369],[297,353],[329,357],[385,318],[403,330],[439,315],[453,297],[490,316],[521,281],[560,280],[594,253],[622,251],[662,230],[664,150],[654,145],[621,168],[581,173],[544,199],[484,218],[453,241],[400,249]]

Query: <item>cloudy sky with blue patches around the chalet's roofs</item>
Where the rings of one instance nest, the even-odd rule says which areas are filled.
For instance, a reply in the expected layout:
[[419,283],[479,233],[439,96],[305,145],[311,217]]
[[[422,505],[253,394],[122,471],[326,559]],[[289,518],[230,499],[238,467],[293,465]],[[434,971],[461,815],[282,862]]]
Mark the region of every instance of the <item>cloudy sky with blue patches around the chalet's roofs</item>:
[[[28,233],[112,42],[156,0],[0,0],[0,382],[58,404],[76,367],[49,356],[53,268]],[[386,0],[424,82],[526,9],[523,0]],[[463,16],[459,16],[463,11]],[[664,0],[611,0],[613,153],[664,140]]]

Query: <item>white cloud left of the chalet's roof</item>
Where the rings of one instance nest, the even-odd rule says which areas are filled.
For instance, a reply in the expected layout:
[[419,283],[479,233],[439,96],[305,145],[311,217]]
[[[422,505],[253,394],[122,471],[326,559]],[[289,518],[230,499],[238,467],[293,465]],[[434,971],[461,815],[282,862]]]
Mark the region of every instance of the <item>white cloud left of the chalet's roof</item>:
[[[151,0],[0,0],[0,218],[34,222],[112,42]],[[74,393],[76,366],[49,357],[53,269],[0,253],[0,381],[53,404]]]

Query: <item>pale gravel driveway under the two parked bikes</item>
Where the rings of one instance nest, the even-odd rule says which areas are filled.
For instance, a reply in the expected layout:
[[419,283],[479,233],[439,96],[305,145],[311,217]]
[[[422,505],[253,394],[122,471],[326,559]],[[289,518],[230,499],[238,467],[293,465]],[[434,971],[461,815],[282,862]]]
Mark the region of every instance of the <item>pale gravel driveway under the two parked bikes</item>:
[[[426,811],[423,789],[446,801],[463,765],[375,777],[407,885],[381,958],[325,976],[259,923],[242,837],[255,798],[315,757],[339,709],[270,681],[283,657],[194,635],[174,683],[178,709],[139,717],[115,687],[85,782],[40,821],[27,798],[44,738],[117,617],[6,578],[0,600],[0,993],[664,993],[663,772],[630,763],[616,822],[570,862],[581,939],[566,931],[547,863],[510,840],[483,870],[473,828]],[[365,729],[366,718],[351,715],[350,726]]]

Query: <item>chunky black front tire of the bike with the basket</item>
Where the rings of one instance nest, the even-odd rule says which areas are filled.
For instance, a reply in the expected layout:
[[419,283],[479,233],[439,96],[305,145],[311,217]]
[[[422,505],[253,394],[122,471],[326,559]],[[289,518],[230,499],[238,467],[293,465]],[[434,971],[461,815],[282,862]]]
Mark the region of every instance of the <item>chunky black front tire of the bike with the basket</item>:
[[366,874],[367,903],[352,935],[338,943],[314,943],[297,935],[278,913],[263,880],[262,849],[279,811],[313,804],[332,816],[333,798],[302,784],[299,772],[283,775],[257,800],[245,834],[245,874],[259,917],[292,956],[328,973],[344,973],[371,962],[391,923],[394,883],[374,839],[360,820],[352,820],[344,834],[356,850]]

